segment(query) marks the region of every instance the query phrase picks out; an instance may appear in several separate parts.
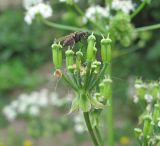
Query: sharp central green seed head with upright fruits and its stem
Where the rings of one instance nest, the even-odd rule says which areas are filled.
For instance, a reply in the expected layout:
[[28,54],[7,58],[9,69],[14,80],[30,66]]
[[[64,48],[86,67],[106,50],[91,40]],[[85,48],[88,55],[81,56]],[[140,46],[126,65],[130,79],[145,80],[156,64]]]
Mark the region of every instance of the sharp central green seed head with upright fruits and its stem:
[[[86,52],[81,48],[68,47],[65,52],[65,71],[62,71],[62,45],[52,45],[53,63],[56,68],[54,75],[62,78],[75,92],[75,98],[69,113],[83,112],[86,126],[95,146],[103,146],[103,140],[98,130],[102,110],[110,106],[112,80],[109,74],[111,63],[112,40],[102,36],[100,42],[96,41],[94,34],[87,39]],[[96,43],[101,46],[101,59],[97,59]]]

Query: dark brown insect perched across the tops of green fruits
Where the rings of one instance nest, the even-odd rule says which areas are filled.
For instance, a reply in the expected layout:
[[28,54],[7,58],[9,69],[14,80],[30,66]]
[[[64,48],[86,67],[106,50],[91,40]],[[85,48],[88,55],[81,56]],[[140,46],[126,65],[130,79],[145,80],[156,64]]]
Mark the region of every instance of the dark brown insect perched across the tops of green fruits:
[[82,39],[86,39],[88,37],[88,32],[73,32],[63,38],[60,38],[58,41],[64,46],[74,46],[74,44],[78,43]]

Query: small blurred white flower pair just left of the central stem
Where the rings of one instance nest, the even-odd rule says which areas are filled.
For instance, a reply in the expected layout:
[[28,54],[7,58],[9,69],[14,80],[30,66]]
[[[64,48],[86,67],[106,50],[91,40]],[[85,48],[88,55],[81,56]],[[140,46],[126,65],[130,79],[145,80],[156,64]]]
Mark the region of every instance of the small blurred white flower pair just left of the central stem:
[[74,130],[77,134],[82,134],[86,131],[86,126],[82,113],[79,112],[76,115],[74,115],[73,122],[75,124]]

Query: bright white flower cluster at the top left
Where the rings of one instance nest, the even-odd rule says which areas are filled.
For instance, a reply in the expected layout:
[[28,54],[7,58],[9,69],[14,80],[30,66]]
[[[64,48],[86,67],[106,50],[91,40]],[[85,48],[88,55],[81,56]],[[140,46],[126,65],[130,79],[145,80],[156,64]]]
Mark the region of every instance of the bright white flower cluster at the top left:
[[52,16],[53,12],[51,6],[42,0],[24,0],[24,7],[27,10],[24,20],[28,25],[32,24],[38,14],[43,18],[48,18]]

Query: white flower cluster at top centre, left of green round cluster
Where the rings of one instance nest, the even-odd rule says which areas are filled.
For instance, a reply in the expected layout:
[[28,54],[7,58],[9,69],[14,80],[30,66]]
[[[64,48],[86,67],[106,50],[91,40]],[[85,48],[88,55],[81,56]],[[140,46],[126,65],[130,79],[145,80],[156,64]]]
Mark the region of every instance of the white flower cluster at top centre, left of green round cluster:
[[86,10],[83,22],[86,23],[88,19],[96,21],[97,18],[107,18],[109,17],[109,9],[101,7],[99,5],[91,6]]

